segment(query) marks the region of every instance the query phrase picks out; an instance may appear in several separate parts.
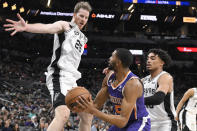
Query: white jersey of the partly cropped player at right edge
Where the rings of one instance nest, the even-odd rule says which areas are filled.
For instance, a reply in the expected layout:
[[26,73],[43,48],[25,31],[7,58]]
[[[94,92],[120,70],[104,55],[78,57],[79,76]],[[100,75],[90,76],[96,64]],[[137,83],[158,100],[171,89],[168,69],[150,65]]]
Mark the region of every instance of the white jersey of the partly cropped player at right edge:
[[194,96],[190,97],[185,109],[194,114],[197,114],[197,88],[192,88],[194,90]]

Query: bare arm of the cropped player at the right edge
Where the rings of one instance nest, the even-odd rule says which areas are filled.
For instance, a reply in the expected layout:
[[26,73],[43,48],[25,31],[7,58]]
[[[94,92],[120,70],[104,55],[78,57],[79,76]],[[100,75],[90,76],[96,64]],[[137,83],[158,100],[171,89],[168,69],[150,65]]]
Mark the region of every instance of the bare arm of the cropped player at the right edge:
[[179,104],[177,105],[177,108],[176,108],[176,117],[175,117],[175,120],[179,120],[179,112],[181,110],[181,108],[183,107],[183,105],[185,104],[185,102],[194,95],[194,90],[193,89],[188,89],[183,98],[181,99],[181,101],[179,102]]

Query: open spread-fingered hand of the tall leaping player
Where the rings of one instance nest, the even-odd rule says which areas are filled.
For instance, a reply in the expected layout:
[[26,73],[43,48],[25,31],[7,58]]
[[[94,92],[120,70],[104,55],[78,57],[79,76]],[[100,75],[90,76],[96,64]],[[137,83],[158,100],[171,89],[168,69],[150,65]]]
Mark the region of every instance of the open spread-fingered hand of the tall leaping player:
[[17,13],[17,17],[19,21],[13,21],[10,19],[6,19],[9,24],[4,24],[3,26],[6,27],[5,31],[13,31],[11,36],[15,35],[17,32],[23,32],[26,30],[26,23],[24,19]]

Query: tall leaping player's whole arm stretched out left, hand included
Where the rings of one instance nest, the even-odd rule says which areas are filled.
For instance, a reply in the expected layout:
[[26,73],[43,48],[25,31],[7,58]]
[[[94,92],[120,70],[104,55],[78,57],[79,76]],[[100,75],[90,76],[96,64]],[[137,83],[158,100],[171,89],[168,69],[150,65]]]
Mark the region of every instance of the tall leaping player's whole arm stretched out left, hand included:
[[59,32],[63,32],[65,30],[69,30],[69,24],[66,21],[57,21],[53,24],[27,24],[25,23],[24,19],[17,14],[19,21],[13,21],[10,19],[6,19],[9,24],[4,24],[3,26],[6,27],[5,31],[13,31],[11,36],[15,35],[17,32],[31,32],[31,33],[48,33],[48,34],[55,34]]

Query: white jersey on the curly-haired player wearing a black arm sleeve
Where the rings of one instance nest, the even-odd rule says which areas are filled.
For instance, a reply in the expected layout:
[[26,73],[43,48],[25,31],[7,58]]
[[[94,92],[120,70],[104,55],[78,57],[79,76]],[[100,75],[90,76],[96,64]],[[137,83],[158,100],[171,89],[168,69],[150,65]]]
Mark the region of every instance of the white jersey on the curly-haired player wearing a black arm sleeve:
[[[158,85],[158,79],[161,75],[167,73],[162,71],[155,78],[151,80],[151,75],[144,78],[144,97],[153,96],[156,93]],[[160,105],[147,105],[147,110],[149,112],[151,123],[152,122],[171,122],[174,119],[175,108],[174,108],[174,92],[168,93],[165,96],[164,101]]]

